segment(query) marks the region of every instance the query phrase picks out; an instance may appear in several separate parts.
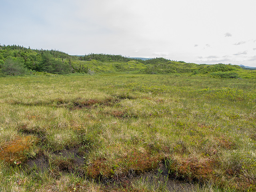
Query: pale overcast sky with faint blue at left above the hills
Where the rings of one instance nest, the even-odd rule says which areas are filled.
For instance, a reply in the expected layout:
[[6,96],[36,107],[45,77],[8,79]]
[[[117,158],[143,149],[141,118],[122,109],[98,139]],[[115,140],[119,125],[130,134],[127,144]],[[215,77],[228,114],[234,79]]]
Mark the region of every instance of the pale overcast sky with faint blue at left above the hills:
[[256,0],[0,0],[0,44],[256,67]]

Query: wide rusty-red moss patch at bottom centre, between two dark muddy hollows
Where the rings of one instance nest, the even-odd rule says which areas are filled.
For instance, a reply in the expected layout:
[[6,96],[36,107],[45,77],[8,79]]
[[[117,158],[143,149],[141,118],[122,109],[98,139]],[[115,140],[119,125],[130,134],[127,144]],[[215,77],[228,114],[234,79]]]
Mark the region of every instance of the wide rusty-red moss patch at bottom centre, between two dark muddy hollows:
[[128,173],[140,174],[157,168],[161,158],[160,154],[140,152],[133,149],[114,161],[106,158],[96,158],[87,166],[86,172],[92,178],[110,178]]

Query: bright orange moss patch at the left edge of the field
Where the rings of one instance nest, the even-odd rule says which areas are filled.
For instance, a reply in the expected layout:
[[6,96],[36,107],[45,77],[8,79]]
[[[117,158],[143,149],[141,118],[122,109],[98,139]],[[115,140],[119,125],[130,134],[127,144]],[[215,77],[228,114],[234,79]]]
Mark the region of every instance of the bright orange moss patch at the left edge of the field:
[[26,160],[25,151],[38,141],[32,136],[17,137],[14,140],[0,146],[0,159],[16,164]]

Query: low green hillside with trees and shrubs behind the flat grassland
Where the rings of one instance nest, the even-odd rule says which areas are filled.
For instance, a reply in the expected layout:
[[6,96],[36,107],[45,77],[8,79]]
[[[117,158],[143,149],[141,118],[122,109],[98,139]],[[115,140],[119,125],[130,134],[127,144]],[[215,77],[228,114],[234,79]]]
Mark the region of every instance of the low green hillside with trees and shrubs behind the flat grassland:
[[71,56],[59,50],[0,45],[0,76],[115,72],[256,78],[256,70],[245,70],[231,64],[194,64],[164,58],[141,60],[111,54]]

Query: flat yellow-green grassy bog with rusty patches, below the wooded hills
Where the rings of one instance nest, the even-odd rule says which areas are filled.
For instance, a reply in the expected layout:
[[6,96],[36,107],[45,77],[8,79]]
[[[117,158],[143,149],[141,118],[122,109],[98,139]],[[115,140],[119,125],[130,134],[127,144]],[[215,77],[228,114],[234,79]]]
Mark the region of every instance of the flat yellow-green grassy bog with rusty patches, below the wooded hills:
[[250,79],[0,78],[0,191],[255,191],[255,107]]

